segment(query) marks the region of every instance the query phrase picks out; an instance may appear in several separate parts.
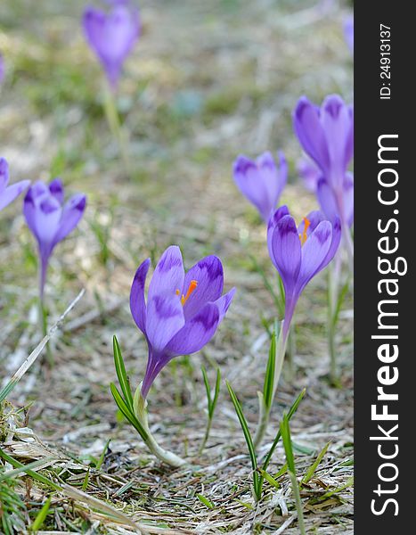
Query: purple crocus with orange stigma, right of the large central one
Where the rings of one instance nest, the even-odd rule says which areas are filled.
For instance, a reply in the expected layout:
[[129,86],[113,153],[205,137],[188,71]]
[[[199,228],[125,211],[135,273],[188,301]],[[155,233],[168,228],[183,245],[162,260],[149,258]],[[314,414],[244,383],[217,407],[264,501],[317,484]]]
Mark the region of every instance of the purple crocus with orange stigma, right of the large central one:
[[285,291],[283,341],[289,333],[300,294],[333,259],[340,237],[339,218],[332,224],[320,211],[310,212],[299,226],[287,206],[281,206],[270,218],[267,245]]

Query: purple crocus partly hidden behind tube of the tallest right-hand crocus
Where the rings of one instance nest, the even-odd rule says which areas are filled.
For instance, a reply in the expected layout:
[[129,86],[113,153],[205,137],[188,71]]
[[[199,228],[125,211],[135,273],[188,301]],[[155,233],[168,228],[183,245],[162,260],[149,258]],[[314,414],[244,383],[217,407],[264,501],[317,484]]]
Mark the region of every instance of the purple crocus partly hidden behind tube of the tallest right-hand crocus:
[[[314,161],[302,158],[298,161],[298,173],[303,178],[306,189],[316,194],[322,212],[334,222],[339,215],[337,202],[330,185],[325,177],[322,177],[322,170]],[[342,188],[346,223],[347,226],[352,226],[354,222],[354,176],[352,173],[346,173]]]

